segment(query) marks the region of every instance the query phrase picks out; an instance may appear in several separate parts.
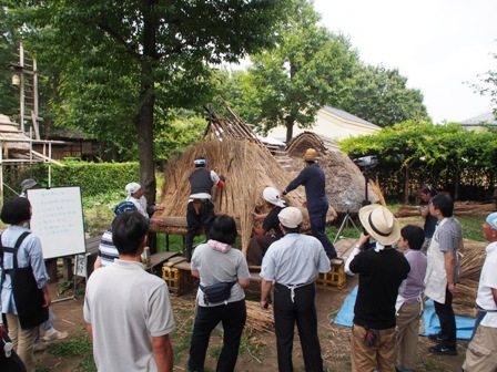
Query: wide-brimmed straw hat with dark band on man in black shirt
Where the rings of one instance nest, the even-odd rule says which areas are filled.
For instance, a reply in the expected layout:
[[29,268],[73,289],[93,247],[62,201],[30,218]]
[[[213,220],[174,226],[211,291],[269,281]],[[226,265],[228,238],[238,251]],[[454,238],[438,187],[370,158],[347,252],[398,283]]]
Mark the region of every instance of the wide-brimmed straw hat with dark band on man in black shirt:
[[384,246],[390,246],[400,238],[400,226],[392,211],[379,204],[359,209],[359,219],[369,236]]

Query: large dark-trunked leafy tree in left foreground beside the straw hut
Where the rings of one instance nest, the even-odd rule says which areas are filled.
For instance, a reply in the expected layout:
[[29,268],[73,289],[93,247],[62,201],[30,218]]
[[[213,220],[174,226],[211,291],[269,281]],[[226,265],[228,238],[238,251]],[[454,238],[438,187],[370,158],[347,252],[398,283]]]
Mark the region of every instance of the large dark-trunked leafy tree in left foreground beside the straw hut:
[[155,104],[168,111],[196,101],[206,92],[211,65],[273,45],[290,4],[8,0],[4,6],[23,24],[27,45],[40,63],[61,66],[58,106],[65,120],[118,137],[135,136],[141,183],[153,200]]

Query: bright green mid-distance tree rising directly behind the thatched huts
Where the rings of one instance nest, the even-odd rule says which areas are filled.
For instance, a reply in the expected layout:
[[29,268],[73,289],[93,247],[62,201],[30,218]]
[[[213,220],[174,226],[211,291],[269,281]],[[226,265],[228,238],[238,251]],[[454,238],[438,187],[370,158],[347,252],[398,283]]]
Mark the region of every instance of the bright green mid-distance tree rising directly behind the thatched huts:
[[239,75],[250,122],[263,132],[294,125],[311,127],[323,104],[341,106],[347,100],[357,52],[348,40],[318,24],[312,2],[296,1],[276,49],[251,55],[247,75]]

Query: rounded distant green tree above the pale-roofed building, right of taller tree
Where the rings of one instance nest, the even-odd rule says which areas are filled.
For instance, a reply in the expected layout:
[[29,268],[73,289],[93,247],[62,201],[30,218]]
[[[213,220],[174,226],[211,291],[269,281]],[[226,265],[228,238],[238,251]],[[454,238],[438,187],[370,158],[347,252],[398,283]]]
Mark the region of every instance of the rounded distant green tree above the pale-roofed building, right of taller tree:
[[408,89],[407,78],[397,69],[366,65],[358,69],[352,85],[352,100],[343,108],[379,126],[407,120],[430,121],[423,94]]

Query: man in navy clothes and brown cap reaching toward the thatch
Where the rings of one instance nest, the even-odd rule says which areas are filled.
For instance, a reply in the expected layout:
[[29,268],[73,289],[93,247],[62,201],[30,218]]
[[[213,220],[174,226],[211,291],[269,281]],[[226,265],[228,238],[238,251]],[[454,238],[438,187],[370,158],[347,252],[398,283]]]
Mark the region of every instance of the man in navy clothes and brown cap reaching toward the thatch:
[[333,242],[325,232],[326,214],[329,208],[326,196],[326,179],[322,168],[317,164],[318,157],[314,148],[307,148],[304,155],[305,168],[283,190],[283,195],[294,190],[301,185],[305,187],[306,207],[313,235],[321,241],[329,259],[336,257]]

